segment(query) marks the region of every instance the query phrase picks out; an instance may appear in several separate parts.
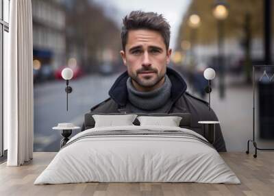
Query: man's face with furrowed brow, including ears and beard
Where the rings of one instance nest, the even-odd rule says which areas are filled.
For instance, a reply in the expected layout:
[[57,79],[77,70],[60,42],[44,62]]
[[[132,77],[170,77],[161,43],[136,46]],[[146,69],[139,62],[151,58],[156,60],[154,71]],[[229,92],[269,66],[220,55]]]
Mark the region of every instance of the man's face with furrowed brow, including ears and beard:
[[121,56],[137,90],[148,91],[162,86],[171,49],[166,51],[164,38],[148,29],[129,30]]

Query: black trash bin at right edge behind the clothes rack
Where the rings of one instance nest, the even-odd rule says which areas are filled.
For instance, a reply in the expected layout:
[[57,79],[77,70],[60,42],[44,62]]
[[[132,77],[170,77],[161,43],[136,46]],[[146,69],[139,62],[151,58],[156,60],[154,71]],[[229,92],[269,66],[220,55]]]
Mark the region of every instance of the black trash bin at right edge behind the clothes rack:
[[274,82],[258,82],[260,138],[274,139]]

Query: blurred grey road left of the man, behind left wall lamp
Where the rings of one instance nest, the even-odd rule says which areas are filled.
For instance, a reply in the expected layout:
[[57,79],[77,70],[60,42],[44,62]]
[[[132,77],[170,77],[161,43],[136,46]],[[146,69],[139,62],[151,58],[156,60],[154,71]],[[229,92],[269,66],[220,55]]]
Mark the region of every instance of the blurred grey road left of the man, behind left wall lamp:
[[[34,151],[58,151],[62,136],[52,130],[58,123],[73,123],[82,127],[84,114],[92,106],[107,99],[108,90],[118,75],[108,77],[88,75],[73,79],[69,94],[69,111],[66,111],[64,80],[36,84],[34,86]],[[80,132],[76,130],[72,136]]]

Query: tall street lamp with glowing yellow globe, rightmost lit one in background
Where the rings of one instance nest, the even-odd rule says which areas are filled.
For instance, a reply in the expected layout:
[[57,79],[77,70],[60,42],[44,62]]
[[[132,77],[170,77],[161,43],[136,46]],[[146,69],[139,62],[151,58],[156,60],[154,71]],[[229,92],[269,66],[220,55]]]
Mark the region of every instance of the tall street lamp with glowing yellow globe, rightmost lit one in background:
[[212,14],[217,19],[218,27],[218,67],[219,67],[219,96],[225,97],[225,67],[223,60],[223,21],[228,16],[228,5],[225,1],[217,0],[214,3]]

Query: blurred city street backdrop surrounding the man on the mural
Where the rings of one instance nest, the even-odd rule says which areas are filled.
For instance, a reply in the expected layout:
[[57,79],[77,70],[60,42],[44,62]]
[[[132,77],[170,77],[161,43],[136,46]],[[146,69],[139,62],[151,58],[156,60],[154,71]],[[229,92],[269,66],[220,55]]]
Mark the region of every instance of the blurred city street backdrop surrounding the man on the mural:
[[[34,151],[58,151],[62,136],[52,127],[64,122],[81,127],[84,114],[108,98],[114,80],[126,70],[120,33],[123,16],[132,10],[158,12],[169,21],[169,66],[183,75],[190,93],[208,100],[203,71],[216,71],[211,102],[227,150],[245,151],[252,138],[252,67],[273,63],[271,0],[33,0]],[[65,67],[74,73],[68,112]],[[264,71],[269,77],[261,78]],[[270,68],[256,72],[260,147],[274,147],[273,73]]]

